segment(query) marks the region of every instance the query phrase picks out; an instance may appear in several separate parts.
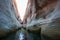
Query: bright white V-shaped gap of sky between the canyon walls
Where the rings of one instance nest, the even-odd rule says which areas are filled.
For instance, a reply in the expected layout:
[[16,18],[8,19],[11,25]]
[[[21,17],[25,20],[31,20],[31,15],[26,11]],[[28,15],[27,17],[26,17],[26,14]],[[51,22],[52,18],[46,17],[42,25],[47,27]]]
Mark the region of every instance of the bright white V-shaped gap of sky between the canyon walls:
[[28,0],[16,0],[17,10],[22,21],[24,19],[27,3]]

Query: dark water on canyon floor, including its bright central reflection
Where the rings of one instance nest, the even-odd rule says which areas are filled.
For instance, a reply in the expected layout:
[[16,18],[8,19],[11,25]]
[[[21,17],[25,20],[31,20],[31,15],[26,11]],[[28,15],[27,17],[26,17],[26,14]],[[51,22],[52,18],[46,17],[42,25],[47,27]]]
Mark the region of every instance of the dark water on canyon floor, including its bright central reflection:
[[41,40],[39,31],[22,31],[18,30],[14,33],[10,33],[7,37],[0,40]]

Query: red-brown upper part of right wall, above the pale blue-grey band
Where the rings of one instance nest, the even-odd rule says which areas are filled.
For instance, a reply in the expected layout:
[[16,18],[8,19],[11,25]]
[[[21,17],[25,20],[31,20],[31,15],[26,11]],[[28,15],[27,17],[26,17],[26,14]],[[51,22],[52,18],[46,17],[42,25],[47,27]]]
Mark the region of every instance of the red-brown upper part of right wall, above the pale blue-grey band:
[[46,18],[54,10],[57,0],[29,0],[24,23],[33,19]]

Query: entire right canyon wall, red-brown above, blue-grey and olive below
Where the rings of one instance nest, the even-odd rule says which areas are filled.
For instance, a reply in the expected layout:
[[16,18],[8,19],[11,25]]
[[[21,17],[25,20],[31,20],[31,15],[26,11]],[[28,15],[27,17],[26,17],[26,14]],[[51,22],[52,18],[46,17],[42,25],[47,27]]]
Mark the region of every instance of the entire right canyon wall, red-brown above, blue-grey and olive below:
[[35,26],[41,27],[41,34],[45,40],[60,39],[59,0],[32,0],[27,10],[24,20],[27,27],[30,29],[35,29]]

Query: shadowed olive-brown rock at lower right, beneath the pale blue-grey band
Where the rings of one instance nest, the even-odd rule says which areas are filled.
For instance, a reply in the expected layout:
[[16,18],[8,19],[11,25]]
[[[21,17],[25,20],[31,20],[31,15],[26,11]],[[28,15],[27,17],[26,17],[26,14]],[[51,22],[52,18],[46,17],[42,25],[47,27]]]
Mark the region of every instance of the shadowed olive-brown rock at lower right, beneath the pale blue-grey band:
[[42,25],[41,33],[46,40],[60,40],[60,18]]

